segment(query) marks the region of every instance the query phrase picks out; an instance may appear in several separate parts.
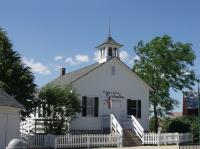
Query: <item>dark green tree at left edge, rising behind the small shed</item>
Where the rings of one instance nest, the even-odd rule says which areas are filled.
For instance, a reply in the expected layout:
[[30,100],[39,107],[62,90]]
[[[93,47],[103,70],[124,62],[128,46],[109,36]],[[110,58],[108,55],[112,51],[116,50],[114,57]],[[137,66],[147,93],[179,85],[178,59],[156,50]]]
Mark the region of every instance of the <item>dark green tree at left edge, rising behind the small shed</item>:
[[0,28],[0,88],[24,105],[22,117],[28,116],[33,110],[36,87],[30,68],[22,63],[6,32]]

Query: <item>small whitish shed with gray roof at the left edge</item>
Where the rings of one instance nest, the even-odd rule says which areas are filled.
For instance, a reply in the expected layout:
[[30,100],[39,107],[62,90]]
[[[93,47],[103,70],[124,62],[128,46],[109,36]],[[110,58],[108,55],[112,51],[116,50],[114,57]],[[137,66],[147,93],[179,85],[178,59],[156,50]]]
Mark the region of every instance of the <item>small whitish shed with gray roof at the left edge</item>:
[[0,88],[0,149],[20,138],[20,110],[23,106]]

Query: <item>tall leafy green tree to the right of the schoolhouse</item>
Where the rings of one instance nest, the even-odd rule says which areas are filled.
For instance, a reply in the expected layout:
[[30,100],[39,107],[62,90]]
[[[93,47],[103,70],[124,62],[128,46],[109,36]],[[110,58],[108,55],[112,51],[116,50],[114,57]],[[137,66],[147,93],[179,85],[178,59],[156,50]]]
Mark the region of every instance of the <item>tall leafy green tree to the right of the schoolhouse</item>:
[[180,91],[194,85],[196,79],[191,66],[196,56],[191,44],[174,42],[167,35],[156,37],[149,43],[140,41],[134,50],[139,59],[135,61],[133,71],[153,89],[150,103],[157,132],[158,116],[177,105],[177,100],[170,96],[170,89]]

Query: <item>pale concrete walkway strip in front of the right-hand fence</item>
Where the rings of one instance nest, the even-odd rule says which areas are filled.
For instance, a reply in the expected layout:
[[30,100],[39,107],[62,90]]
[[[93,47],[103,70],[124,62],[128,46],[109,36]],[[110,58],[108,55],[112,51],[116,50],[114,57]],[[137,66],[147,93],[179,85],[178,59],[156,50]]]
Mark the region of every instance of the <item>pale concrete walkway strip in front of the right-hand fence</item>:
[[121,147],[121,148],[100,148],[100,149],[179,149],[177,145],[166,146],[135,146],[135,147]]

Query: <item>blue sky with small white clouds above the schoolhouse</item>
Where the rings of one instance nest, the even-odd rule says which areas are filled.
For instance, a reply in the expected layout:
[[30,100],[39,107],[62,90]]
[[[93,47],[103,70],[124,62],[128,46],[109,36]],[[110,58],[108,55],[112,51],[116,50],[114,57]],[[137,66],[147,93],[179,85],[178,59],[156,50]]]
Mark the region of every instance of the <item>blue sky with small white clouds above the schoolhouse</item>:
[[[94,63],[109,20],[130,67],[138,41],[168,34],[174,41],[192,43],[194,69],[200,74],[199,6],[198,0],[0,0],[0,26],[32,67],[39,87],[59,76],[61,66],[69,72]],[[182,100],[181,93],[173,96]]]

